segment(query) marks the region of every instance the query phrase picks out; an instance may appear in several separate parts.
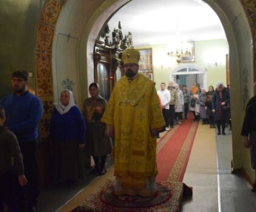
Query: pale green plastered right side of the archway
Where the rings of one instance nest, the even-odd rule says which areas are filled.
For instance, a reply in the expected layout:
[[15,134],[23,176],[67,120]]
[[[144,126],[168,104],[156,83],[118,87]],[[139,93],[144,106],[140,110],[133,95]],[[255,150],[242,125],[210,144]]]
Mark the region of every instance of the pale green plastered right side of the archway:
[[[253,82],[255,78],[253,51],[255,47],[252,41],[252,31],[244,9],[255,13],[252,1],[221,1],[206,0],[215,10],[223,24],[230,53],[230,84],[231,84],[231,109],[232,113],[232,150],[234,169],[243,168],[247,174],[255,179],[255,171],[252,170],[249,161],[249,150],[243,147],[241,125],[244,118],[244,106],[249,98],[254,96]],[[244,4],[244,7],[243,5]],[[252,19],[252,18],[250,18]],[[255,36],[255,35],[254,35]],[[254,49],[253,49],[254,47]]]

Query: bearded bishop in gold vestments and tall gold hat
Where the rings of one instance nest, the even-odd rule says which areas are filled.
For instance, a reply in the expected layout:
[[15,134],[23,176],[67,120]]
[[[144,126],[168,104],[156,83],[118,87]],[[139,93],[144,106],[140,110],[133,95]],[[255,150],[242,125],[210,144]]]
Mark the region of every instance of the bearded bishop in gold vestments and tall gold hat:
[[156,131],[165,122],[154,82],[138,74],[139,51],[126,49],[122,59],[125,76],[102,118],[114,130],[115,194],[152,196],[157,190]]

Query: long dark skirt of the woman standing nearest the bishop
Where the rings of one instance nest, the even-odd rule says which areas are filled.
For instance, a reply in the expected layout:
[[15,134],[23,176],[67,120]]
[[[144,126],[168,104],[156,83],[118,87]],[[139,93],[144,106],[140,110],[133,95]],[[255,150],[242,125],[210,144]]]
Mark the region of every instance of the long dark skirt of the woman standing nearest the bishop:
[[92,156],[108,155],[112,151],[112,142],[104,136],[105,124],[103,122],[86,123],[86,148]]

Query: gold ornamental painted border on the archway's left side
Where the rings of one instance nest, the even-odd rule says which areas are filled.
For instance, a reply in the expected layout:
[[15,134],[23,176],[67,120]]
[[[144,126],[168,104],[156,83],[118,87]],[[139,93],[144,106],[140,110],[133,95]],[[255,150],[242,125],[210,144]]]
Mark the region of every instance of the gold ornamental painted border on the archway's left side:
[[36,95],[43,102],[44,114],[39,126],[40,137],[48,136],[54,103],[52,77],[52,42],[61,8],[67,0],[47,0],[40,13],[35,38]]

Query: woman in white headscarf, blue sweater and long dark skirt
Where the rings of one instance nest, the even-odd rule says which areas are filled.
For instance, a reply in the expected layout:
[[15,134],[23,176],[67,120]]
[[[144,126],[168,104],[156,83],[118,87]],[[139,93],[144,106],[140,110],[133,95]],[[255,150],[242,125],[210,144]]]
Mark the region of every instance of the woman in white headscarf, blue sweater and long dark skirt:
[[85,147],[85,121],[72,91],[63,90],[60,102],[54,103],[49,138],[54,147],[54,178],[69,183],[83,179],[83,149]]

